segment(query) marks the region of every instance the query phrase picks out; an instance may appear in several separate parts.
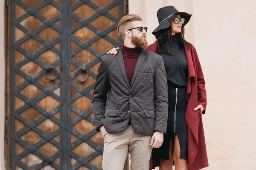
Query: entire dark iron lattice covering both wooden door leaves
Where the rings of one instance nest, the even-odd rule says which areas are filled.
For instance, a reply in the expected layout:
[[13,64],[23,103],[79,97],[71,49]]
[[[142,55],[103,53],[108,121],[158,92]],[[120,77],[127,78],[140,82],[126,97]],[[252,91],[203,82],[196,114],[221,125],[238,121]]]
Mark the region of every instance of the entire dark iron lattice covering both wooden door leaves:
[[[80,17],[76,16],[73,13],[70,14],[70,11],[73,11],[74,9],[78,8],[79,6],[81,6],[84,3],[86,3],[88,6],[94,8],[98,12],[96,14],[94,14],[93,16],[87,18],[86,20],[82,20]],[[26,14],[23,14],[21,17],[17,18],[16,20],[15,20],[15,4],[19,5],[20,7],[22,7],[23,9],[26,10]],[[61,11],[61,14],[58,14],[55,17],[53,17],[52,19],[48,20],[47,18],[45,18],[37,13],[38,10],[40,10],[44,6],[47,6],[48,4],[51,4],[55,8],[58,8],[58,10]],[[66,4],[68,4],[68,5],[66,5]],[[119,21],[118,19],[113,17],[111,14],[108,14],[107,11],[109,11],[111,8],[115,7],[118,4],[120,4],[119,16],[122,17],[124,14],[124,9],[123,9],[124,4],[123,4],[122,0],[116,0],[114,3],[111,3],[110,5],[106,6],[105,8],[99,8],[95,4],[91,3],[89,0],[81,0],[80,2],[74,4],[73,6],[70,6],[69,0],[62,0],[62,6],[60,4],[54,2],[53,0],[44,0],[44,2],[42,2],[41,4],[39,4],[38,6],[35,6],[33,8],[29,8],[28,6],[26,6],[19,0],[12,0],[11,31],[14,33],[14,31],[15,31],[14,28],[16,26],[21,31],[25,32],[27,35],[25,37],[21,38],[20,40],[18,40],[17,42],[15,42],[14,34],[11,34],[10,77],[14,77],[14,73],[16,72],[21,77],[26,79],[26,82],[19,85],[16,89],[14,89],[14,79],[10,79],[10,89],[11,89],[10,90],[11,91],[11,98],[10,98],[10,100],[11,100],[10,101],[11,102],[11,120],[10,121],[11,121],[11,138],[12,138],[11,146],[13,146],[13,147],[11,147],[11,169],[15,168],[15,164],[19,165],[23,169],[28,169],[28,167],[26,167],[25,164],[20,162],[19,159],[23,158],[24,156],[26,156],[29,153],[33,153],[36,156],[38,156],[40,159],[43,160],[43,162],[41,164],[38,164],[36,167],[32,168],[34,170],[41,169],[42,167],[44,167],[47,164],[50,164],[55,169],[63,169],[63,170],[70,169],[70,168],[77,169],[77,168],[81,167],[82,165],[85,165],[86,167],[88,167],[92,170],[97,169],[95,166],[93,166],[92,164],[89,163],[90,160],[94,159],[96,156],[103,153],[103,147],[98,146],[96,143],[92,142],[89,139],[91,136],[96,134],[96,130],[92,130],[89,133],[82,135],[82,134],[78,133],[76,130],[71,128],[73,125],[75,125],[81,119],[86,119],[87,121],[94,124],[93,119],[90,118],[90,116],[89,116],[93,112],[93,110],[92,110],[92,108],[90,108],[87,111],[82,112],[78,108],[75,108],[73,105],[70,105],[72,102],[74,102],[76,99],[79,99],[83,95],[87,96],[89,99],[92,99],[92,95],[89,93],[89,91],[91,89],[93,89],[94,83],[92,85],[89,85],[85,89],[74,84],[71,81],[74,78],[74,75],[73,74],[71,75],[69,73],[69,71],[70,71],[69,68],[70,68],[70,63],[74,64],[78,68],[79,67],[81,68],[82,65],[79,62],[77,62],[76,60],[74,60],[72,58],[72,56],[74,54],[78,53],[79,51],[81,51],[82,49],[86,49],[87,51],[89,51],[90,53],[92,53],[93,55],[95,55],[97,57],[92,62],[85,65],[86,68],[91,68],[97,62],[99,62],[102,54],[99,54],[96,50],[94,50],[93,48],[90,48],[90,45],[93,42],[96,42],[97,40],[99,40],[101,37],[105,38],[105,40],[108,40],[109,42],[111,42],[112,44],[114,44],[116,46],[119,46],[122,44],[121,39],[120,39],[120,42],[117,42],[116,40],[112,39],[111,37],[109,37],[107,35],[109,32],[113,31],[113,29],[116,28],[117,23]],[[92,20],[96,19],[97,17],[99,17],[101,14],[115,22],[115,24],[113,26],[107,28],[104,31],[101,31],[101,30],[93,27],[92,25],[90,25],[90,22]],[[28,30],[27,28],[22,26],[20,24],[20,22],[22,20],[26,19],[27,17],[29,17],[30,15],[38,18],[44,24],[42,26],[36,28],[34,31]],[[68,16],[66,16],[66,15],[68,15]],[[73,28],[70,28],[70,16],[79,22],[79,24]],[[61,19],[61,28],[54,24],[59,19]],[[51,42],[46,42],[44,39],[42,39],[41,37],[39,37],[37,35],[40,31],[44,30],[48,26],[53,28],[55,31],[58,31],[59,33],[61,33],[60,37],[56,38],[55,40],[53,40]],[[96,32],[96,34],[97,34],[95,37],[93,37],[92,39],[90,39],[89,41],[84,42],[84,43],[80,42],[76,37],[73,37],[73,35],[72,35],[76,30],[80,29],[83,26],[86,26],[87,28],[91,29],[92,31]],[[20,47],[20,44],[22,44],[23,42],[26,42],[27,40],[29,40],[29,38],[34,38],[36,41],[40,42],[44,46],[42,48],[38,49],[38,51],[36,51],[33,54],[28,53],[26,50],[24,50],[23,48]],[[79,45],[79,47],[73,51],[70,51],[70,40],[73,40],[74,42],[76,42]],[[63,49],[62,53],[61,53],[61,51],[59,51],[57,48],[54,47],[54,45],[57,44],[58,42],[61,42],[61,49]],[[19,62],[17,65],[14,64],[15,49],[27,57],[23,61]],[[44,73],[43,73],[44,71],[40,71],[38,74],[35,74],[32,77],[29,77],[28,75],[26,75],[19,69],[21,66],[25,65],[29,61],[33,61],[36,64],[40,65],[42,68],[46,68],[47,65],[45,65],[44,62],[41,62],[41,60],[39,60],[36,57],[38,57],[38,55],[42,54],[44,51],[47,51],[48,49],[51,49],[53,52],[55,52],[56,54],[61,56],[61,58],[59,60],[57,60],[56,62],[54,62],[48,66],[56,67],[56,66],[60,65],[60,63],[62,66],[61,74],[59,74],[59,76],[58,76],[58,79],[61,78],[61,81],[58,84],[53,85],[49,89],[47,89],[44,85],[41,85],[40,83],[37,82],[37,79],[44,76]],[[103,53],[103,54],[105,54],[105,53]],[[67,67],[65,67],[66,65],[67,65]],[[67,74],[69,75],[68,77],[67,77]],[[89,75],[91,77],[93,77],[94,79],[96,78],[96,74],[90,70],[89,70]],[[41,91],[43,91],[44,93],[36,96],[33,100],[27,99],[27,97],[20,94],[19,91],[22,90],[23,88],[25,88],[29,84],[35,85],[37,88],[41,89]],[[53,91],[55,89],[59,88],[60,85],[61,85],[61,97],[59,97],[53,93]],[[79,91],[79,93],[76,94],[75,96],[73,96],[72,98],[68,98],[68,96],[70,96],[70,91],[69,91],[70,86],[72,86],[77,91]],[[69,90],[67,91],[66,89],[69,89]],[[26,105],[17,109],[17,111],[14,111],[15,95],[26,102]],[[38,101],[40,101],[47,95],[52,96],[54,99],[56,99],[60,102],[60,105],[50,112],[47,112],[43,108],[36,105],[36,103]],[[68,105],[66,105],[66,104],[68,104]],[[44,116],[42,116],[40,119],[38,119],[34,122],[31,122],[31,123],[28,122],[26,119],[24,119],[22,116],[20,116],[20,113],[25,111],[30,106],[35,108],[36,110],[38,110]],[[79,115],[72,121],[70,121],[70,109]],[[53,116],[58,111],[61,111],[61,119],[62,119],[61,121]],[[65,113],[63,111],[65,111]],[[68,111],[68,113],[66,113],[66,111]],[[17,133],[14,132],[15,118],[27,126]],[[37,125],[39,125],[41,122],[44,122],[44,120],[46,120],[48,118],[51,119],[53,122],[55,122],[56,124],[58,124],[61,127],[58,130],[55,130],[55,132],[51,133],[50,135],[45,134],[42,130],[38,129],[38,127],[37,127]],[[24,133],[28,132],[29,130],[33,130],[36,133],[38,133],[42,137],[41,141],[39,141],[33,145],[28,145],[26,142],[21,140],[20,136],[22,136]],[[72,144],[70,143],[70,135],[68,135],[70,133],[72,133],[73,135],[75,135],[79,138],[76,142],[73,142]],[[56,142],[53,139],[58,134],[60,134],[61,144],[59,144],[58,142]],[[24,148],[26,148],[25,151],[18,154],[17,156],[15,156],[15,149],[14,149],[15,141],[17,143],[19,143],[20,145],[22,145]],[[36,150],[38,147],[41,147],[46,142],[50,142],[50,143],[54,144],[56,147],[58,147],[58,149],[59,149],[58,153],[56,153],[55,155],[53,155],[51,157],[46,157]],[[84,159],[82,159],[81,157],[76,155],[76,153],[73,153],[71,151],[74,147],[81,144],[82,142],[86,142],[87,144],[89,144],[91,147],[93,147],[96,150],[94,153],[92,153],[90,156],[87,156]],[[61,148],[61,146],[62,146],[62,148]],[[72,167],[70,167],[70,156],[72,156],[74,159],[79,161]],[[53,162],[58,157],[60,157],[60,161],[61,161],[60,166],[58,166],[57,164],[55,164]]]

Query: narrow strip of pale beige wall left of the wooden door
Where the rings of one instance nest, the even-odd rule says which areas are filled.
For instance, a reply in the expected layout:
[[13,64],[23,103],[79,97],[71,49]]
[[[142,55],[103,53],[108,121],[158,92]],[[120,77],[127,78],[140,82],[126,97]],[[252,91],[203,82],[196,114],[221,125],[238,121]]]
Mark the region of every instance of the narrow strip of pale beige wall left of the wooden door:
[[5,122],[5,43],[4,43],[4,0],[0,0],[0,170],[4,164],[4,122]]

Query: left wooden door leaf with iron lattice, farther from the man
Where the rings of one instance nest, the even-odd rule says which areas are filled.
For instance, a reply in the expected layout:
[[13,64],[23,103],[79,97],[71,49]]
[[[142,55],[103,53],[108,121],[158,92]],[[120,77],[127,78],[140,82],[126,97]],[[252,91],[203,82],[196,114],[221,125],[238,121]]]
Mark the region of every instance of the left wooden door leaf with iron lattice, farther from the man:
[[11,3],[11,169],[61,169],[60,8],[57,1]]

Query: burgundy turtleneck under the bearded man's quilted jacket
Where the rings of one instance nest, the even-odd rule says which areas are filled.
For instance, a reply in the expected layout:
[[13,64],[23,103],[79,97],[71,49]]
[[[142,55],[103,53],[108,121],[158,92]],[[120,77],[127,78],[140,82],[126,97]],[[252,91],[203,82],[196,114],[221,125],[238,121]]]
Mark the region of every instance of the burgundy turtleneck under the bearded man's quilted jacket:
[[134,75],[134,70],[137,64],[137,60],[140,55],[140,48],[129,48],[126,47],[124,44],[122,45],[122,54],[123,59],[125,62],[125,71],[127,74],[127,78],[129,81],[129,84],[131,86],[132,77]]

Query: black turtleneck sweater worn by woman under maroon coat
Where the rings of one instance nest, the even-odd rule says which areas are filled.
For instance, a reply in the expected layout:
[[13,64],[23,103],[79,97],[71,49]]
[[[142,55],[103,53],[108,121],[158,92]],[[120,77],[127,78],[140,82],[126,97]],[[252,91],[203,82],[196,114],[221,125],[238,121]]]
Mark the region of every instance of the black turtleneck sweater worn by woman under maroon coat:
[[174,53],[160,53],[167,74],[169,88],[187,87],[188,65],[185,50],[181,50],[177,43],[177,36],[172,36]]

